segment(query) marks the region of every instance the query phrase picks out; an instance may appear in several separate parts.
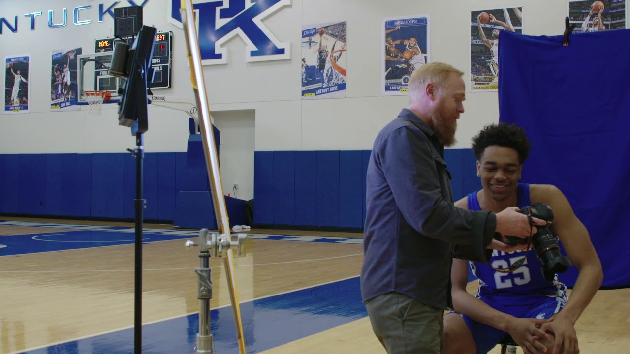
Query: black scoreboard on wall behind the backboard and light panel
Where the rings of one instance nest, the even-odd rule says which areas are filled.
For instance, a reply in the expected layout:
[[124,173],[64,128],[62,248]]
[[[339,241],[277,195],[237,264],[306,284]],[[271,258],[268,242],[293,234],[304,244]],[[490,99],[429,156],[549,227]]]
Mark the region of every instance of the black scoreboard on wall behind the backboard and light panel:
[[[134,45],[134,38],[125,39],[131,48]],[[153,45],[153,81],[151,89],[171,88],[171,60],[173,59],[173,32],[156,33]],[[114,50],[114,38],[96,40],[96,52],[111,52]]]

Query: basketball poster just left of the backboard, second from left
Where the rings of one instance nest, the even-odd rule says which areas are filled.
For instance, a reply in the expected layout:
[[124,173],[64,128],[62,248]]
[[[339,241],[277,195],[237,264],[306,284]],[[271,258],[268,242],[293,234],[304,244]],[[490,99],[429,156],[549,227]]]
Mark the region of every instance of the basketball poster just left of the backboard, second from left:
[[81,48],[52,51],[50,65],[50,111],[78,111],[77,55]]

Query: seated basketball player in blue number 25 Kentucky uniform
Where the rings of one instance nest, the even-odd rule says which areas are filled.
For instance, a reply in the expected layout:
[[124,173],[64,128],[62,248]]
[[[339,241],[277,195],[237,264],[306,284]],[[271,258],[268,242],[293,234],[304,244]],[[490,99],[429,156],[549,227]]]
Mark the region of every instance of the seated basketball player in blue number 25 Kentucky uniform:
[[[444,353],[487,353],[512,336],[525,353],[575,354],[578,341],[575,322],[602,284],[602,265],[587,229],[573,214],[563,193],[553,185],[519,183],[523,163],[529,154],[524,130],[516,125],[490,125],[473,139],[477,173],[483,189],[455,202],[469,210],[500,212],[507,207],[523,208],[541,202],[553,210],[550,229],[559,237],[568,258],[579,271],[570,299],[566,286],[547,282],[542,263],[532,248],[525,253],[494,251],[489,263],[472,263],[479,278],[477,295],[466,292],[467,261],[455,259],[452,266],[454,309],[444,317]],[[512,273],[507,268],[527,254],[527,261]],[[550,319],[553,318],[553,319]]]

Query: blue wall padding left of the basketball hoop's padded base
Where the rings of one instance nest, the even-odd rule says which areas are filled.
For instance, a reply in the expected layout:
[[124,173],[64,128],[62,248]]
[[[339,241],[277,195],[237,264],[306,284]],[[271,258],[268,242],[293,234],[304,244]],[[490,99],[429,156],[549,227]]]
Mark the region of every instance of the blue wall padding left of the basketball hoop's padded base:
[[[145,219],[173,219],[176,163],[175,153],[145,155]],[[0,155],[0,212],[133,219],[135,180],[126,152]]]

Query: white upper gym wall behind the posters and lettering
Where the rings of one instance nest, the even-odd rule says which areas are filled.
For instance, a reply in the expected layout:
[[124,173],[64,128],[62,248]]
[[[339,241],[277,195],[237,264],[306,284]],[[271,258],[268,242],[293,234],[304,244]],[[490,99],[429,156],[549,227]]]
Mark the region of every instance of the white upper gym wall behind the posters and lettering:
[[[408,104],[404,96],[381,96],[381,20],[384,17],[431,14],[432,61],[444,61],[469,71],[471,9],[524,7],[524,33],[561,35],[564,31],[564,0],[293,0],[267,18],[265,25],[282,42],[291,42],[291,59],[246,63],[244,42],[226,43],[229,63],[205,67],[211,111],[255,110],[256,151],[370,149],[372,141],[389,120]],[[0,115],[0,153],[124,152],[134,145],[129,128],[118,127],[115,105],[103,115],[82,111],[51,113],[49,108],[50,57],[53,49],[83,47],[91,52],[96,38],[110,37],[113,19],[98,22],[98,4],[113,1],[29,0],[3,1],[0,16],[18,15],[18,32],[4,28],[1,54],[31,54],[31,113]],[[142,1],[136,1],[142,3]],[[47,11],[55,16],[63,8],[89,4],[82,18],[90,25],[64,28],[47,26]],[[185,59],[183,31],[166,21],[167,0],[149,0],[144,23],[158,31],[173,31],[173,88],[156,94],[188,96],[193,101],[189,69]],[[127,6],[125,1],[118,7]],[[31,31],[23,14],[42,11]],[[71,16],[69,16],[71,19]],[[302,101],[300,96],[302,23],[347,21],[347,98]],[[55,22],[58,22],[55,19]],[[2,78],[4,80],[4,78]],[[541,77],[541,84],[544,78]],[[470,139],[487,123],[498,121],[496,93],[468,93],[466,113],[459,121],[457,148],[467,148]],[[188,123],[184,115],[168,108],[151,108],[147,152],[186,150]],[[181,117],[180,117],[181,116]],[[226,116],[227,117],[227,116]],[[233,182],[233,181],[232,181]],[[239,181],[240,184],[241,181]],[[231,190],[231,185],[229,186]],[[244,192],[244,191],[243,191]]]

